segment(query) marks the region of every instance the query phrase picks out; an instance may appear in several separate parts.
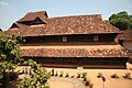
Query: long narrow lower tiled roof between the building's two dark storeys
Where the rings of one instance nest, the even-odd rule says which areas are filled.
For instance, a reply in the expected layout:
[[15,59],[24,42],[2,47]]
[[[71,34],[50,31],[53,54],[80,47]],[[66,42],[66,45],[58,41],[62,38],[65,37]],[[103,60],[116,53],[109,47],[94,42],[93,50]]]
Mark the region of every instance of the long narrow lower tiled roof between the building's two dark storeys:
[[22,56],[31,57],[129,57],[120,45],[21,46]]

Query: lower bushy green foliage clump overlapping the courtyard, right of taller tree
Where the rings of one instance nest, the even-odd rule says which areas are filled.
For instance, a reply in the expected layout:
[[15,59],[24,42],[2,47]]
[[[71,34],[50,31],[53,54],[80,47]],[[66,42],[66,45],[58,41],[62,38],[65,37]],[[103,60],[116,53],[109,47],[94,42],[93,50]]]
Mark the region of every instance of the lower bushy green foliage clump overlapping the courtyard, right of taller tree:
[[24,64],[31,66],[31,75],[30,78],[23,79],[18,88],[50,88],[47,84],[50,75],[40,64],[32,59],[24,62]]

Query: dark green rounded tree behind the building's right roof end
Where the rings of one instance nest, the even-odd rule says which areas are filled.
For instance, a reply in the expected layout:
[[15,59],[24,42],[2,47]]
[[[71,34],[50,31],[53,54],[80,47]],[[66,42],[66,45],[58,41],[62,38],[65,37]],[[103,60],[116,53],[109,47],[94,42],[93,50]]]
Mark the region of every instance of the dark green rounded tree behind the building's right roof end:
[[113,13],[109,18],[108,22],[120,30],[132,29],[132,15],[130,15],[127,11]]

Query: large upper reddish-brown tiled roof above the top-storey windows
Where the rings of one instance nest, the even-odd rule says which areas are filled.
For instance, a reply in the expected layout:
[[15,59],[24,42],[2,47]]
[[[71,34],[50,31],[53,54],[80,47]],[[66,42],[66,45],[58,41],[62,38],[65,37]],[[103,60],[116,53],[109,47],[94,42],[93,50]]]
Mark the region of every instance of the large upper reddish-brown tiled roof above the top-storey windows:
[[[33,14],[28,13],[19,22],[23,19],[24,21],[34,19],[36,18],[35,14],[37,15],[35,12]],[[26,25],[26,28],[23,24],[23,26],[18,28],[19,31],[12,32],[13,29],[9,29],[7,33],[19,33],[22,36],[121,33],[113,25],[102,21],[100,14],[47,18],[46,22],[46,24]]]

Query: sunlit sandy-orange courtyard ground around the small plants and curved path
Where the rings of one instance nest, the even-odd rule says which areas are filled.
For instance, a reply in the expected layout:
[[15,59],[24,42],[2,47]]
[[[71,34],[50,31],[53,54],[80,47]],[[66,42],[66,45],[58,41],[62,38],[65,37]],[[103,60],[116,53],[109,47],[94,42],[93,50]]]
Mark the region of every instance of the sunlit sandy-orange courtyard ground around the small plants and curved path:
[[[47,70],[52,70],[52,68],[46,68]],[[68,73],[72,75],[77,75],[77,73],[88,73],[89,79],[91,79],[91,82],[94,84],[94,88],[132,88],[132,79],[124,79],[123,76],[127,73],[131,74],[132,77],[132,70],[128,69],[69,69],[69,68],[54,68],[55,70]],[[106,82],[103,84],[101,78],[98,78],[98,73],[102,73],[106,77]],[[117,74],[119,78],[111,78],[112,74]],[[53,81],[56,80],[56,81]],[[59,80],[59,81],[58,81]],[[76,81],[76,80],[73,80]],[[58,78],[52,78],[52,81],[50,84],[52,85],[51,88],[76,88],[75,84],[73,81],[67,81],[67,79],[58,79]],[[57,85],[56,85],[57,84]],[[77,88],[85,88],[85,86],[77,87]]]

